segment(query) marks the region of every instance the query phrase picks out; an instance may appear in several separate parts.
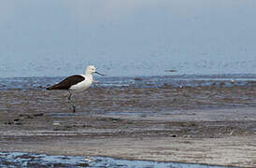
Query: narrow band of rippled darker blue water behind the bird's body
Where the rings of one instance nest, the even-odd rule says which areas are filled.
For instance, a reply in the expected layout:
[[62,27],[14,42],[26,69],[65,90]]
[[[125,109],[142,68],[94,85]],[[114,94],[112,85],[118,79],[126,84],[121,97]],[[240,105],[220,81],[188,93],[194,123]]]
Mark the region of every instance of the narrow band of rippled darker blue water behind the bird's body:
[[[0,90],[44,89],[64,79],[64,77],[0,77]],[[212,75],[212,76],[154,76],[154,77],[95,77],[92,87],[133,87],[158,88],[216,86],[246,86],[256,81],[255,74]]]

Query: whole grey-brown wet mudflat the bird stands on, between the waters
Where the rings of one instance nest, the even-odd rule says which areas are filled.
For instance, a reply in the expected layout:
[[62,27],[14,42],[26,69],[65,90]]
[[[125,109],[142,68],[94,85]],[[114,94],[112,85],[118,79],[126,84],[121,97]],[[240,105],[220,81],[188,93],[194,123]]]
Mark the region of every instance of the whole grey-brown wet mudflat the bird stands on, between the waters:
[[250,87],[0,91],[0,150],[256,167]]

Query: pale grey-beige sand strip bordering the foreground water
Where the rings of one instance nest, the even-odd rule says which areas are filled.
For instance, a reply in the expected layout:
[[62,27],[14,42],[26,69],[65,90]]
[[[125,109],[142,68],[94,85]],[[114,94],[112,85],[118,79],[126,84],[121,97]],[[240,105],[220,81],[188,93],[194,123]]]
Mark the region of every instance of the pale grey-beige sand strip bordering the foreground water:
[[[8,138],[11,137],[9,136]],[[19,139],[18,141],[21,141],[21,136],[16,138]],[[30,138],[35,137],[31,136]],[[44,136],[44,138],[55,139],[54,136]],[[27,143],[12,142],[15,143],[15,145],[12,143],[8,144],[1,138],[1,142],[5,144],[1,145],[1,151],[64,156],[110,157],[128,161],[178,162],[211,166],[255,167],[256,165],[256,147],[252,145],[255,144],[256,135],[243,137],[230,136],[218,139],[183,137],[94,139],[94,137],[90,137],[84,139],[87,141],[86,143],[81,142],[82,140],[80,140],[80,138],[82,137],[80,136],[71,138],[73,145],[69,142],[70,136],[63,136],[62,138],[64,139],[63,141],[60,139],[58,139],[57,143],[47,141],[48,144],[44,144],[37,139],[35,144],[34,141],[28,141],[29,138],[27,137],[25,138]],[[143,143],[141,143],[141,141],[143,141]],[[133,145],[131,145],[131,143]],[[216,143],[218,143],[218,145]],[[162,145],[159,146],[159,144]],[[169,147],[166,144],[172,144],[172,146],[175,147]],[[156,145],[158,147],[152,147]],[[190,150],[190,154],[188,154],[188,150]]]

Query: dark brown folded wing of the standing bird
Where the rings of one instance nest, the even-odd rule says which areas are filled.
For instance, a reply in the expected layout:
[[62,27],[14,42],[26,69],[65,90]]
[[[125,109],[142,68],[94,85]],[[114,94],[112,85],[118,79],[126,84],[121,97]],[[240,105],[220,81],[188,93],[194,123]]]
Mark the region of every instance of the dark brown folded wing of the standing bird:
[[68,90],[72,85],[76,85],[82,80],[84,80],[84,77],[79,75],[66,77],[60,83],[47,88],[47,90]]

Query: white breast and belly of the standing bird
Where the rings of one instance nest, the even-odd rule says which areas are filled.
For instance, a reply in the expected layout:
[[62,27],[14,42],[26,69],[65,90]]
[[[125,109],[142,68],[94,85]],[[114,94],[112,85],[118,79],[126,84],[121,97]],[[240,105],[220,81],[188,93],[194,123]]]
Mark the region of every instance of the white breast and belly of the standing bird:
[[70,87],[70,91],[85,91],[92,85],[92,75],[80,75],[85,79]]

